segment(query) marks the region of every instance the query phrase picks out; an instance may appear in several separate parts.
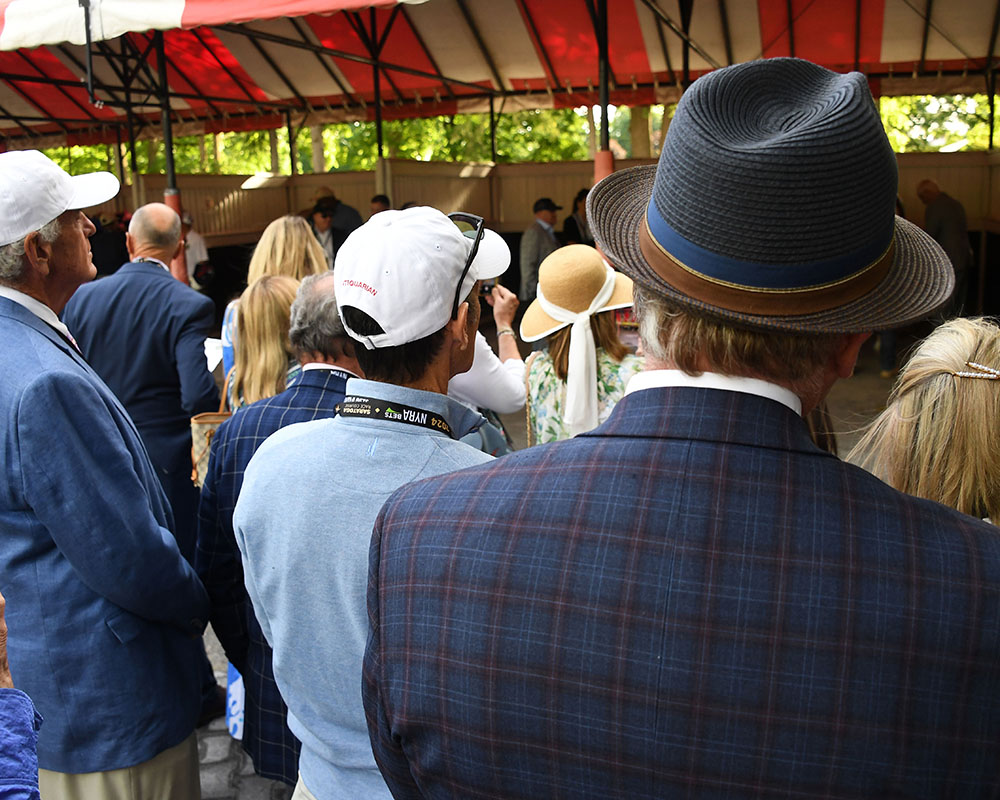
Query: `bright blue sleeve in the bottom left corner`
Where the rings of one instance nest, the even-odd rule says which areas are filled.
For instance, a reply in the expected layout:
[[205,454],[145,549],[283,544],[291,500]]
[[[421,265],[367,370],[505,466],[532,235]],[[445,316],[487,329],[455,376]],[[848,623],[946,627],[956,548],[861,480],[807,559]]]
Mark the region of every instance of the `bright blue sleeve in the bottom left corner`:
[[18,689],[0,689],[0,800],[38,800],[42,718]]

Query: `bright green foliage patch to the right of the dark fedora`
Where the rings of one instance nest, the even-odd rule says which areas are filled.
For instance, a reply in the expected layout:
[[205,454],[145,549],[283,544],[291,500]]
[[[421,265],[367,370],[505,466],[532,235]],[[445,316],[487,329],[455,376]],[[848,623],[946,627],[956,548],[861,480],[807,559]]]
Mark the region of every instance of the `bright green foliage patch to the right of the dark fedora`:
[[984,94],[883,97],[879,108],[897,153],[985,150],[989,99]]

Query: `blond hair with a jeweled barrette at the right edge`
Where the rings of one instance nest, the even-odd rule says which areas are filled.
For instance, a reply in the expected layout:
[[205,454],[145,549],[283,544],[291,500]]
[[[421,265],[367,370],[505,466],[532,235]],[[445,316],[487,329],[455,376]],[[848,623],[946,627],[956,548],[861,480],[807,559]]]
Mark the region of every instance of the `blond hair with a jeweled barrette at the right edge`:
[[907,494],[1000,522],[1000,381],[970,362],[1000,369],[996,323],[959,317],[938,327],[848,458]]

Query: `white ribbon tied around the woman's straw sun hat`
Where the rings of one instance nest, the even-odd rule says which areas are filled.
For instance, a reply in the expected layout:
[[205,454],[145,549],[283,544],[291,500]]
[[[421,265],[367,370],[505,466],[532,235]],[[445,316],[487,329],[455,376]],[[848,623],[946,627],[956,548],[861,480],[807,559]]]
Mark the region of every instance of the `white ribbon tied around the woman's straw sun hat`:
[[545,299],[541,284],[537,288],[536,299],[542,311],[557,322],[568,322],[569,366],[566,369],[566,406],[563,421],[570,436],[585,433],[597,427],[597,345],[594,332],[590,329],[590,318],[611,299],[615,290],[615,271],[605,265],[607,275],[601,290],[590,301],[586,311],[575,311],[557,306]]

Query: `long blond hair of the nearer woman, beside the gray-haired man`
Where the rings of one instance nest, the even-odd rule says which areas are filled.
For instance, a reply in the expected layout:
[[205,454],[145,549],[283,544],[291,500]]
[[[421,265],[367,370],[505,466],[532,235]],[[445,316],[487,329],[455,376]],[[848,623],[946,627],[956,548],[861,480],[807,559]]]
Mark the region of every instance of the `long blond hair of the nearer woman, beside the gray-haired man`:
[[240,295],[231,396],[253,403],[285,390],[292,357],[288,325],[299,282],[287,275],[265,275]]

